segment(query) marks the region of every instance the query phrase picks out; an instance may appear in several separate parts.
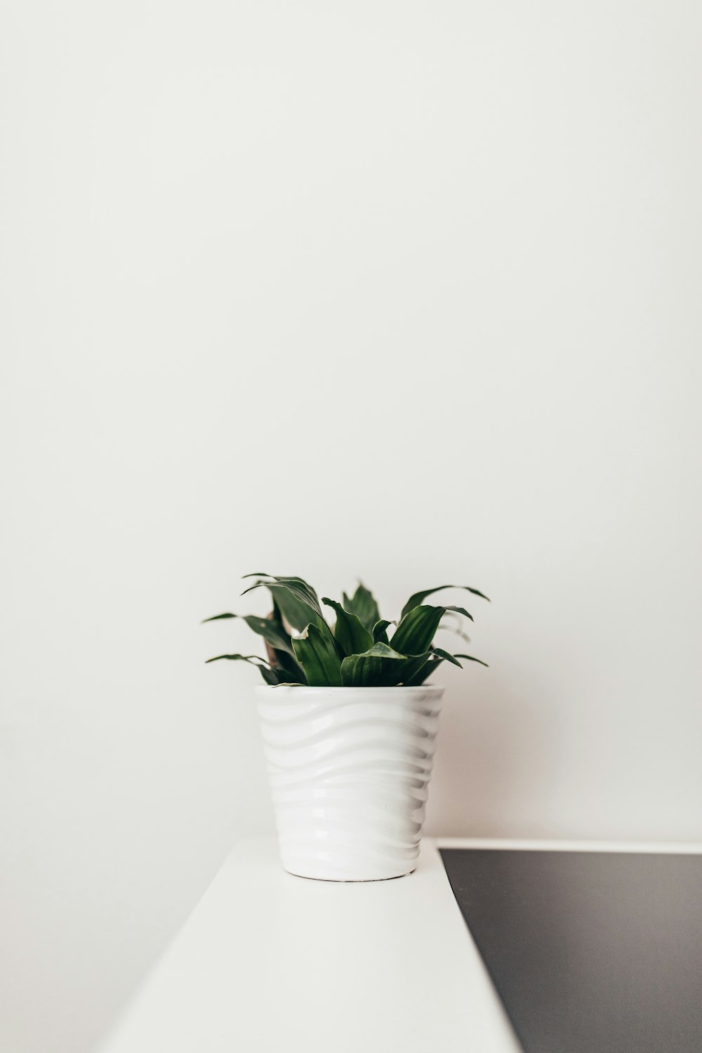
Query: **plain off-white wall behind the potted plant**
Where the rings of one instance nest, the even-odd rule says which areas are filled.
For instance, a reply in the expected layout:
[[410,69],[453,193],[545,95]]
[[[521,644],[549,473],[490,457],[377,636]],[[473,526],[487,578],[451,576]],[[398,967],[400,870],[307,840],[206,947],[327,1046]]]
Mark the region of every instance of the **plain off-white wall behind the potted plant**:
[[699,5],[2,23],[3,1051],[270,827],[247,571],[493,596],[432,830],[702,838]]

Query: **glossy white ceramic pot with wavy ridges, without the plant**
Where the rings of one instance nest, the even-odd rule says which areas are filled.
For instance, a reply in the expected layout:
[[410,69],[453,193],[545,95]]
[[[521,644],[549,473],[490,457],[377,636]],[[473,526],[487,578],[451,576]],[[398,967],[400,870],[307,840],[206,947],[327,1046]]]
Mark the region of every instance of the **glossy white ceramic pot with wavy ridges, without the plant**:
[[325,881],[415,869],[443,688],[257,688],[283,867]]

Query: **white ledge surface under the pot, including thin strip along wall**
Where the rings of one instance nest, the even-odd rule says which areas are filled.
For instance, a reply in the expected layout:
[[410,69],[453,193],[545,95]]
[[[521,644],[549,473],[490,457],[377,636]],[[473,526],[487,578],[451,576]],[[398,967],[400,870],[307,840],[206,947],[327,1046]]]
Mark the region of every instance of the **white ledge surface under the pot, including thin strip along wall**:
[[[700,852],[700,846],[441,840]],[[518,1053],[435,842],[390,881],[293,877],[240,842],[99,1053]]]

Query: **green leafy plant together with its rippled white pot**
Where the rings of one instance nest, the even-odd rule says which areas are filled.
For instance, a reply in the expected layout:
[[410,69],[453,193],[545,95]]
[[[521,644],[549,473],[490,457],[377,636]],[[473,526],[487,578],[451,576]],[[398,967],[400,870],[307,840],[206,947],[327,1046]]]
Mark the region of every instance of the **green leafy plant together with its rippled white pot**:
[[[265,641],[266,658],[225,654],[208,661],[249,662],[257,689],[283,867],[330,881],[400,877],[415,869],[443,688],[427,684],[444,661],[480,661],[434,643],[462,607],[424,602],[439,585],[409,597],[397,621],[380,617],[362,584],[342,602],[322,598],[302,578],[253,574],[244,590],[267,589],[267,617],[242,617]],[[459,631],[459,635],[464,636]],[[482,665],[485,662],[481,662]]]

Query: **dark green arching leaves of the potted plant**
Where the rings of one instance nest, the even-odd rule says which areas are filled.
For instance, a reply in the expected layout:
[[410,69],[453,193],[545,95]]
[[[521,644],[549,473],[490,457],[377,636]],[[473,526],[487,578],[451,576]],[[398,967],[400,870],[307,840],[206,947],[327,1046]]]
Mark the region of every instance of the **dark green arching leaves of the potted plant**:
[[[263,637],[267,658],[258,655],[217,655],[208,661],[246,661],[256,665],[268,684],[309,684],[315,688],[415,687],[424,683],[444,661],[461,667],[459,658],[486,663],[467,654],[450,654],[434,643],[445,616],[473,620],[463,607],[434,607],[424,600],[445,589],[464,589],[487,599],[469,585],[438,585],[409,597],[399,620],[380,617],[373,594],[362,584],[342,602],[322,597],[334,611],[329,625],[315,590],[302,578],[272,574],[247,574],[256,578],[242,596],[254,589],[267,589],[273,611],[267,618],[254,614],[217,614],[205,621],[242,618]],[[462,632],[459,636],[464,639]]]

